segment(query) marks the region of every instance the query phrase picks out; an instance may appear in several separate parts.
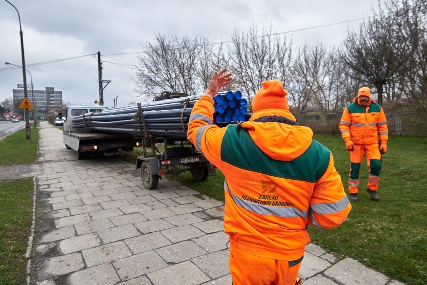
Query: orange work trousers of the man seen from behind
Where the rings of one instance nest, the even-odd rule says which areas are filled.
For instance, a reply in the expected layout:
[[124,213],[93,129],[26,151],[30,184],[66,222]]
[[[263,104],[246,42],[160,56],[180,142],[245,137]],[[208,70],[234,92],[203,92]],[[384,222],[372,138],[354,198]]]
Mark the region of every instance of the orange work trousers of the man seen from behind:
[[259,257],[230,244],[233,285],[295,285],[302,259],[284,261]]

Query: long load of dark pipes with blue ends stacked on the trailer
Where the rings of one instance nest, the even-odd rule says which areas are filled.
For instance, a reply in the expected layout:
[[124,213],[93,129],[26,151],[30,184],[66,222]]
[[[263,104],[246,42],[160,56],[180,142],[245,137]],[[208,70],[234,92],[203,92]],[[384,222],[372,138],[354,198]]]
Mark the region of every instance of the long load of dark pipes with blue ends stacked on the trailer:
[[[223,93],[214,97],[216,99],[214,104],[215,123],[222,125],[247,120],[246,100],[242,99],[242,93],[240,91]],[[232,99],[229,99],[230,93],[233,96]],[[218,103],[218,95],[226,98],[222,100],[225,103]],[[153,136],[186,140],[190,114],[194,103],[199,98],[200,96],[190,96],[141,104],[142,114],[139,112],[138,105],[103,109],[102,112],[74,117],[72,127],[77,131],[132,133],[141,136],[146,135],[146,131]],[[227,104],[226,107],[225,104]],[[221,121],[219,121],[220,119]]]

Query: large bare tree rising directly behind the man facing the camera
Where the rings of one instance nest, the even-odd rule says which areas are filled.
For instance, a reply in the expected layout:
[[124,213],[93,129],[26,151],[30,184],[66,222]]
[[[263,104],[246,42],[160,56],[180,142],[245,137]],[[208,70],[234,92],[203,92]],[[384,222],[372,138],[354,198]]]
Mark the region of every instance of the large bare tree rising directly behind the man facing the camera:
[[384,85],[399,72],[405,72],[412,55],[396,25],[395,18],[380,7],[379,13],[350,32],[339,50],[349,75],[366,85],[375,86],[378,103],[382,104]]

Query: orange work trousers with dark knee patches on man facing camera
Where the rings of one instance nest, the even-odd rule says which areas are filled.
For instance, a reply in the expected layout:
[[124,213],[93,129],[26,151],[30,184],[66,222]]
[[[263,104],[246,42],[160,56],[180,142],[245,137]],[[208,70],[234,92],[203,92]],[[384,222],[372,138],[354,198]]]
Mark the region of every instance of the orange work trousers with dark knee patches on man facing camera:
[[381,153],[378,144],[354,145],[350,151],[350,176],[348,178],[348,192],[359,192],[359,171],[363,154],[366,154],[366,163],[369,167],[368,189],[376,191],[381,171]]

